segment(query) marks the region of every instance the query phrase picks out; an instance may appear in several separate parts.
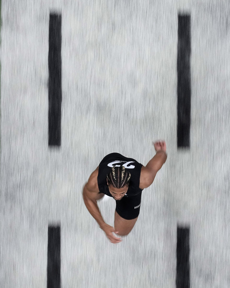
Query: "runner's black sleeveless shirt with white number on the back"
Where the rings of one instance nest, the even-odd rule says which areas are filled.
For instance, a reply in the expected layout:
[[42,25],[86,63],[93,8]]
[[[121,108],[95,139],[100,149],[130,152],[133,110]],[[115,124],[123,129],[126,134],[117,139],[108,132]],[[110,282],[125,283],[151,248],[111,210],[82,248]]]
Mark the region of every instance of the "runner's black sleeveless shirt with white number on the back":
[[141,163],[138,163],[135,159],[127,158],[119,153],[110,153],[101,160],[97,176],[97,185],[99,188],[99,193],[104,193],[112,197],[107,185],[106,175],[111,172],[113,166],[115,167],[124,166],[124,168],[126,168],[131,174],[129,188],[124,197],[135,196],[141,193],[142,190],[139,188],[139,184],[140,184],[141,167],[143,165]]

